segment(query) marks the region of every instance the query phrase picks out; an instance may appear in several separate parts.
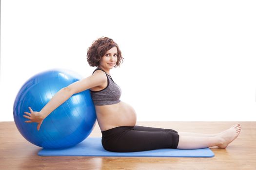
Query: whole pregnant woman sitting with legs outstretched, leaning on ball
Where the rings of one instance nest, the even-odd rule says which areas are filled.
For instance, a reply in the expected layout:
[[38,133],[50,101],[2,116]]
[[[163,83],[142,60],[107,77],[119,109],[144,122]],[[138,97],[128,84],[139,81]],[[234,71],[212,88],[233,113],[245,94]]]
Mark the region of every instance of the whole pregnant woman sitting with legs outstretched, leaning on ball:
[[110,70],[123,61],[118,44],[108,37],[98,38],[88,48],[87,61],[91,67],[97,67],[91,76],[60,89],[39,112],[29,108],[30,113],[24,112],[26,115],[23,115],[29,119],[25,122],[37,122],[39,130],[43,120],[59,105],[72,95],[90,89],[102,133],[102,146],[107,151],[138,152],[161,148],[199,149],[212,146],[226,148],[241,131],[239,124],[218,134],[137,126],[135,110],[119,100],[121,89],[110,76]]

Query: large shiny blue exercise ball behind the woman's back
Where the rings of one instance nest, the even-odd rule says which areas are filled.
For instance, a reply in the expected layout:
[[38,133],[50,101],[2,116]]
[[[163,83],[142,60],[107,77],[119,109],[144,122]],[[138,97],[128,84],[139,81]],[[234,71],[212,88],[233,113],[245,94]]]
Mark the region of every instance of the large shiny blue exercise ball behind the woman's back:
[[47,149],[72,147],[92,132],[96,122],[95,107],[89,90],[74,94],[38,123],[26,123],[24,112],[40,111],[55,93],[81,77],[69,70],[54,69],[30,78],[21,88],[14,102],[13,116],[20,134],[29,142]]

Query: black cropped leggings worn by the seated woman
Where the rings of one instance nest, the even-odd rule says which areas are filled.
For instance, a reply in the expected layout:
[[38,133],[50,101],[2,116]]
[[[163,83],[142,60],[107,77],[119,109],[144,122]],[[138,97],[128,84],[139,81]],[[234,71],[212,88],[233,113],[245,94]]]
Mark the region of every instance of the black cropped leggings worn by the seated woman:
[[177,148],[179,140],[175,130],[143,126],[119,126],[101,133],[103,148],[111,152]]

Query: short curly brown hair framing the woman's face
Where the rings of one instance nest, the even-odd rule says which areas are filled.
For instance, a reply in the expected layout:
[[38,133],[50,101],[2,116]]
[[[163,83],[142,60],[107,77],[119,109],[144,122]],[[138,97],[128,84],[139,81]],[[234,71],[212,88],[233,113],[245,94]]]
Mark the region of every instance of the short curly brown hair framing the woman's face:
[[116,65],[114,66],[115,68],[120,66],[121,62],[123,62],[123,57],[121,54],[121,51],[118,47],[118,44],[113,41],[113,39],[108,38],[108,37],[101,37],[98,38],[97,40],[93,41],[93,44],[91,47],[88,48],[87,50],[87,61],[91,67],[98,67],[99,61],[102,56],[105,55],[105,53],[112,49],[113,47],[117,47],[118,49],[118,61]]

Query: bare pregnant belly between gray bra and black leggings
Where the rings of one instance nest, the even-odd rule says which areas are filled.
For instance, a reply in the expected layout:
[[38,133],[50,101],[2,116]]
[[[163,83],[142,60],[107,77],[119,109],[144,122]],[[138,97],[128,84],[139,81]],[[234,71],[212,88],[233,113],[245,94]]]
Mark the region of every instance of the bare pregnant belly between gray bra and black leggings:
[[136,112],[132,106],[125,102],[117,104],[95,106],[98,125],[101,131],[118,126],[135,126]]

